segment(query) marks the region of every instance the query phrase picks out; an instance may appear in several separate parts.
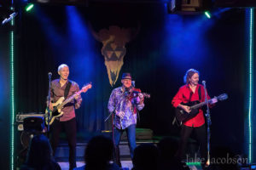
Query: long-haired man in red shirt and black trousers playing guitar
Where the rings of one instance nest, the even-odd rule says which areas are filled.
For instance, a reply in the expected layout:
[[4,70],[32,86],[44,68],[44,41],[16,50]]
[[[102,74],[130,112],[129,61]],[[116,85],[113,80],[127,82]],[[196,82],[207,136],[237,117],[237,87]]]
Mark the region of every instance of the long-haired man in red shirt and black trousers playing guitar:
[[[205,100],[206,94],[204,87],[198,83],[199,75],[199,71],[196,71],[195,69],[189,69],[189,71],[186,72],[184,76],[185,85],[179,88],[177,94],[172,99],[172,105],[175,108],[179,108],[186,113],[190,113],[190,106],[184,104],[193,101],[203,102]],[[208,95],[207,99],[210,99]],[[217,98],[213,98],[212,104],[216,102]],[[192,116],[190,119],[183,122],[176,156],[178,159],[182,160],[189,136],[193,131],[195,131],[197,140],[200,144],[201,163],[204,167],[207,161],[207,130],[205,125],[205,118],[201,109],[199,109],[195,116]]]

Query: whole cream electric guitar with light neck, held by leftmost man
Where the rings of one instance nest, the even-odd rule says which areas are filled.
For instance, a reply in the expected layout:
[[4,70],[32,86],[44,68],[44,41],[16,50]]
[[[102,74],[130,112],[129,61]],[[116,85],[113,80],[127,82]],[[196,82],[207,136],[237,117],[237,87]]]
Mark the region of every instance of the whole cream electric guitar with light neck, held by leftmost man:
[[45,123],[48,125],[48,114],[49,114],[49,125],[51,125],[55,121],[56,117],[60,117],[64,114],[63,111],[61,111],[64,105],[71,102],[79,94],[87,92],[89,88],[91,88],[91,83],[89,83],[88,85],[85,85],[81,90],[79,90],[79,92],[77,92],[76,94],[73,94],[68,99],[65,99],[64,97],[61,97],[60,99],[58,99],[55,103],[52,104],[54,108],[53,111],[49,111],[48,108],[46,109],[45,116],[44,116]]

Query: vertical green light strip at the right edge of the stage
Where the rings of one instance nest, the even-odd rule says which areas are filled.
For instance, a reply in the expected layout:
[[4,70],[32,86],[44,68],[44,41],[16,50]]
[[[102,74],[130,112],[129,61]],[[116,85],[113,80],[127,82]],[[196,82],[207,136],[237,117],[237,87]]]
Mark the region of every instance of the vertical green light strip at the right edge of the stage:
[[249,124],[249,141],[248,141],[248,161],[252,162],[252,104],[253,104],[253,8],[250,8],[250,31],[249,31],[249,108],[248,108],[248,124]]

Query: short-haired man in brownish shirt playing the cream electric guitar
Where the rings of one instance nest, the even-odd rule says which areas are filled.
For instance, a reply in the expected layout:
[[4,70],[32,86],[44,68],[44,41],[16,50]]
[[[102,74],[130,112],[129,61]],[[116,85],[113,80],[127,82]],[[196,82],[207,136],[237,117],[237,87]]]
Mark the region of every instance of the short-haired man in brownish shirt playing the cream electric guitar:
[[[69,76],[69,68],[67,65],[62,64],[58,67],[58,74],[60,75],[60,79],[55,79],[51,82],[50,88],[50,102],[49,102],[49,110],[54,110],[54,105],[58,99],[61,97],[65,97],[65,99],[69,98],[73,94],[79,92],[79,85],[76,82],[68,80]],[[75,95],[74,99],[64,105],[61,109],[63,111],[63,115],[55,118],[55,121],[50,126],[51,131],[51,146],[53,149],[53,153],[55,155],[55,150],[59,144],[59,135],[61,133],[62,128],[67,134],[67,142],[69,146],[69,169],[73,169],[76,167],[76,118],[75,118],[75,109],[79,109],[82,102],[82,98],[80,94]]]

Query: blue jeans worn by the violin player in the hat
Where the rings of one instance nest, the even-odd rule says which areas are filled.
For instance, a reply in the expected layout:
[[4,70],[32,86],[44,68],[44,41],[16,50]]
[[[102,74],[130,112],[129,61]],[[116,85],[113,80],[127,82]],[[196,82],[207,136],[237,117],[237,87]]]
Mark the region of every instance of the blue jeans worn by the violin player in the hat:
[[115,148],[114,161],[119,165],[119,167],[121,167],[121,161],[119,156],[119,142],[124,131],[127,134],[131,159],[133,158],[133,153],[136,148],[136,124],[126,127],[125,130],[120,130],[116,127],[113,127],[113,144]]

